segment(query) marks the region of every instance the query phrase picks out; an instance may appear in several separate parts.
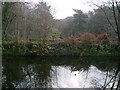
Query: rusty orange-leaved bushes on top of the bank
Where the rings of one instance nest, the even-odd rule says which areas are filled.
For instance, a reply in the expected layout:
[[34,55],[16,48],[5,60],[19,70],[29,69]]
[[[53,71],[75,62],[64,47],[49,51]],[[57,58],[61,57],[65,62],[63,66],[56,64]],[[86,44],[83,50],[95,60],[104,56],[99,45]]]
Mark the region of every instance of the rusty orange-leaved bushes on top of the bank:
[[68,37],[67,41],[78,42],[83,44],[105,44],[110,42],[110,40],[108,39],[108,34],[106,32],[99,34],[97,37],[94,34],[88,32],[82,34],[81,37],[78,38],[71,35],[70,37]]

